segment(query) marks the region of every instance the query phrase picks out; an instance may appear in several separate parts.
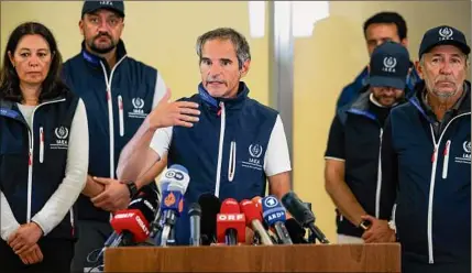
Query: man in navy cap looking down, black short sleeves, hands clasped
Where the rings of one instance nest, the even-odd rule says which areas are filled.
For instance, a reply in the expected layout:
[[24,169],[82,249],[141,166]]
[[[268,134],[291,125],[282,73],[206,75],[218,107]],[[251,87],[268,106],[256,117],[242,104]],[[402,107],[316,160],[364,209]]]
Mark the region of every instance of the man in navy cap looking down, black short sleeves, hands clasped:
[[395,42],[374,50],[369,91],[336,114],[325,154],[325,186],[337,207],[339,243],[395,241],[389,217],[394,190],[381,181],[384,122],[404,100],[408,51]]

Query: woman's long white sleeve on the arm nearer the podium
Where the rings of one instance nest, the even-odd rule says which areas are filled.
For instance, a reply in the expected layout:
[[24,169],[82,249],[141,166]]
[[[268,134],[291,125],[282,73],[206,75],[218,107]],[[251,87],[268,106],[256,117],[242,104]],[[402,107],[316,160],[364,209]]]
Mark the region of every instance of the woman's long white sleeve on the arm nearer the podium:
[[88,170],[88,122],[85,105],[79,100],[70,125],[66,174],[44,207],[32,218],[46,236],[67,215],[85,187]]

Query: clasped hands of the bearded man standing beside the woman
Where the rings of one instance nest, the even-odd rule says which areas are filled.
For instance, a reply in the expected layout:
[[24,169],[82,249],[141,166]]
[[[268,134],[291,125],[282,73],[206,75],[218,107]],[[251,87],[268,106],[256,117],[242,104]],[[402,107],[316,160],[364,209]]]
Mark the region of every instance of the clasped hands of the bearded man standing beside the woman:
[[103,177],[94,177],[94,181],[105,185],[105,190],[91,198],[94,206],[107,211],[125,209],[130,204],[130,190],[120,181]]

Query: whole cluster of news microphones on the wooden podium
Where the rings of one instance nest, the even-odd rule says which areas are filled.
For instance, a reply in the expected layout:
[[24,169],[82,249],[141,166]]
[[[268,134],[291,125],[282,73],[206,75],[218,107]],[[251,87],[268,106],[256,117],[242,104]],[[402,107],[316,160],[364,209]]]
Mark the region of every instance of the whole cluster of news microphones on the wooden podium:
[[[145,187],[128,209],[114,214],[111,219],[114,231],[102,251],[114,247],[175,244],[174,228],[183,212],[189,181],[184,166],[168,167],[160,182],[161,196]],[[241,201],[233,198],[220,200],[213,194],[202,194],[198,203],[189,204],[187,214],[189,245],[237,245],[248,240],[252,244],[264,245],[316,243],[316,240],[329,243],[315,225],[315,215],[309,206],[293,192],[282,200],[270,195]],[[246,228],[253,231],[252,237],[246,234]]]

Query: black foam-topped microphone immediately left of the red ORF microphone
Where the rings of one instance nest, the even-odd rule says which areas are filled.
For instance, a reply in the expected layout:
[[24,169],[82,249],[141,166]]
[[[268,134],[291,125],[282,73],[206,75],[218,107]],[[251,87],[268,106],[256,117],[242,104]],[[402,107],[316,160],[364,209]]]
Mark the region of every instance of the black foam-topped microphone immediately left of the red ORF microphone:
[[198,197],[201,207],[201,244],[210,245],[217,242],[217,215],[220,212],[221,201],[213,194],[206,193]]

